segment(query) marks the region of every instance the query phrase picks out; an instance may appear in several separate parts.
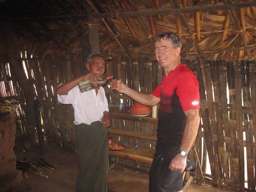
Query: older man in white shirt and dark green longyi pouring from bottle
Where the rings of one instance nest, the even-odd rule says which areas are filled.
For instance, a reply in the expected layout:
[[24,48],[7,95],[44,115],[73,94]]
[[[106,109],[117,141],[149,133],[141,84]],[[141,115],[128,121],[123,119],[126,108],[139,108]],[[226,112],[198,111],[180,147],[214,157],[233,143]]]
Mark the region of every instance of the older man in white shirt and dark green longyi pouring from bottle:
[[108,142],[106,127],[110,126],[108,102],[103,87],[81,93],[78,82],[96,83],[105,72],[105,57],[89,55],[88,74],[57,87],[58,101],[74,108],[78,152],[77,192],[107,192]]

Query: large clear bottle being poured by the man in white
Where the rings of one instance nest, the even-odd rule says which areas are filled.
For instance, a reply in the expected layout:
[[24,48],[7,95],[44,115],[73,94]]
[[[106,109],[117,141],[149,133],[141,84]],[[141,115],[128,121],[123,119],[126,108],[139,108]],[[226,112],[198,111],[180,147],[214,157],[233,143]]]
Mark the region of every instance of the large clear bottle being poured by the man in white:
[[100,76],[101,76],[101,79],[99,79],[98,82],[95,84],[91,83],[88,79],[80,81],[78,83],[80,92],[83,93],[85,91],[95,89],[98,86],[105,85],[107,80],[113,79],[113,76],[104,76],[104,75],[100,75]]

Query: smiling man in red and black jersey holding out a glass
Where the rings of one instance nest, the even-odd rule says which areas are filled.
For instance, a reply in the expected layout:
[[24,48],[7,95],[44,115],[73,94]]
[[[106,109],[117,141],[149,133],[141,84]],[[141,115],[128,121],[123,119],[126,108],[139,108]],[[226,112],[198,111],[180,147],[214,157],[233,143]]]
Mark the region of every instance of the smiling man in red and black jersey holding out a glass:
[[155,106],[160,102],[149,191],[182,191],[187,156],[196,140],[200,122],[199,85],[193,72],[181,63],[182,42],[176,34],[160,33],[154,45],[156,59],[164,69],[160,85],[152,94],[145,94],[118,80],[116,90],[143,105]]

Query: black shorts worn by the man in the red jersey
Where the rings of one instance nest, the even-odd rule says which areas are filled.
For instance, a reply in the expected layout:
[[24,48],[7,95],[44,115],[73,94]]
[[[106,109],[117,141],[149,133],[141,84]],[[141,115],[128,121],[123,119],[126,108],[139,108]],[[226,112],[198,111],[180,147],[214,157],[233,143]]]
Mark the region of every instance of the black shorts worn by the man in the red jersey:
[[149,172],[149,192],[175,192],[182,190],[183,173],[168,167],[177,155],[180,146],[158,142]]

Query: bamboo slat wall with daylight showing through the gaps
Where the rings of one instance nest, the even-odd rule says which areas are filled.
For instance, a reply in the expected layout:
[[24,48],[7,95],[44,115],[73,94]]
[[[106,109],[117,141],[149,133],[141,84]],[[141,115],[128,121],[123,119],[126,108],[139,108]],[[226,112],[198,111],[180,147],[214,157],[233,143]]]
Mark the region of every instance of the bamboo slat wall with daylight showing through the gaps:
[[[59,83],[81,75],[81,55],[66,54],[65,57],[47,55],[44,59],[23,56],[23,60],[25,60],[28,74],[31,74],[28,75],[29,81],[36,87],[36,98],[42,105],[41,115],[45,141],[75,150],[73,108],[70,105],[58,104],[55,89]],[[196,171],[191,174],[196,178],[197,183],[205,181],[216,187],[224,187],[233,191],[254,191],[256,185],[255,61],[206,60],[200,65],[199,60],[196,59],[194,61],[184,60],[183,63],[186,63],[197,76],[201,96],[202,119],[194,149],[197,151],[203,176],[199,169],[200,166],[197,166]],[[7,64],[2,64],[6,69]],[[116,58],[112,61],[107,60],[106,73],[113,74],[115,78],[127,82],[129,87],[151,93],[158,85],[162,72],[156,61],[147,62],[146,58],[138,58],[138,61],[132,62],[132,59],[127,57],[121,60]],[[11,91],[10,82],[4,83],[2,75],[1,97],[15,97],[17,101],[21,101],[22,99],[18,100],[22,98],[22,90],[18,86],[18,81],[11,79],[11,75],[7,75],[7,80],[12,80],[16,92]],[[5,88],[3,88],[3,83]],[[123,99],[125,104],[133,104],[129,97],[120,95],[107,86],[105,90],[109,103],[117,103]],[[22,115],[21,119],[23,119]],[[151,135],[156,134],[157,128],[154,123],[122,119],[111,119],[111,127]],[[128,141],[129,145],[138,143],[144,148],[154,149],[155,147],[154,141],[118,136],[115,137],[116,142]],[[196,153],[192,154],[192,159],[197,161]],[[207,159],[209,159],[210,174],[207,173]],[[124,159],[120,161],[141,169],[148,170],[150,167],[140,162]],[[245,165],[247,165],[246,170]],[[247,173],[247,180],[245,173]],[[244,187],[245,180],[246,188]]]

